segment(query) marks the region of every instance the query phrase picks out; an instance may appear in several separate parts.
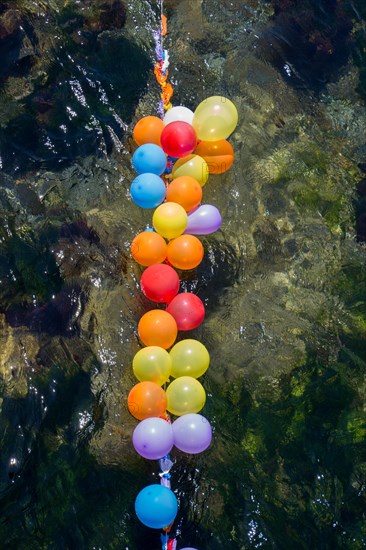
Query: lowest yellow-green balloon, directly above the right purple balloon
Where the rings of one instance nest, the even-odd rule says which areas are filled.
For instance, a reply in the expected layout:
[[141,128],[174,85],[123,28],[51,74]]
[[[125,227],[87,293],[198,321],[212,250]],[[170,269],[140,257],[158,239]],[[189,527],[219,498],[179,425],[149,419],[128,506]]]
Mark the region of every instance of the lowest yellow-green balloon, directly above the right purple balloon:
[[191,376],[181,376],[166,390],[167,409],[175,416],[197,413],[206,403],[206,392],[200,382]]

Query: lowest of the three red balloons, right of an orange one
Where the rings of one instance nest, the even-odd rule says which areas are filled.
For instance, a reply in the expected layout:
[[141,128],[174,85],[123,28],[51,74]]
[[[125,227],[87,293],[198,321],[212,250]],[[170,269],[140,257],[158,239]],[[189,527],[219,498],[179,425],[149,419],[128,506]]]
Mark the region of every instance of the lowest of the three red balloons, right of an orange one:
[[202,300],[191,292],[181,292],[167,307],[177,323],[178,330],[192,330],[205,318],[205,306]]

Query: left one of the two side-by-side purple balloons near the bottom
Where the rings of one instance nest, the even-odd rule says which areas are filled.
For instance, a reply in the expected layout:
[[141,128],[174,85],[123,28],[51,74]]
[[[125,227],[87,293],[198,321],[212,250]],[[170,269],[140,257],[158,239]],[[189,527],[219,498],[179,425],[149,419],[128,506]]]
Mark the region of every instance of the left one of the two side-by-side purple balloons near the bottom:
[[162,418],[146,418],[134,429],[132,443],[139,455],[149,460],[158,460],[173,447],[172,425]]

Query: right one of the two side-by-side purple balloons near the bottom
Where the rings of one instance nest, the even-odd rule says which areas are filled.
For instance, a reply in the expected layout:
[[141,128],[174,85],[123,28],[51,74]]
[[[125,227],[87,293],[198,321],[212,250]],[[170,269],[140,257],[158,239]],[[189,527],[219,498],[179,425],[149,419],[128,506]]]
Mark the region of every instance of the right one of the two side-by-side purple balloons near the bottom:
[[[144,420],[144,422],[147,422]],[[200,414],[185,414],[172,424],[174,445],[180,451],[197,454],[205,451],[212,440],[209,421]]]

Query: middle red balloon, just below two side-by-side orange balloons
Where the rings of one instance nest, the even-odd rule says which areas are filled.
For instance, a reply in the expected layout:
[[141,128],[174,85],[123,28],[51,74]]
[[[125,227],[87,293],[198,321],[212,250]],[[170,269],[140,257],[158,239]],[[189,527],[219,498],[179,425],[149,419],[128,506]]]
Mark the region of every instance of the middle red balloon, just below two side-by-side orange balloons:
[[179,291],[177,272],[167,264],[154,264],[143,272],[141,290],[153,302],[169,303]]

